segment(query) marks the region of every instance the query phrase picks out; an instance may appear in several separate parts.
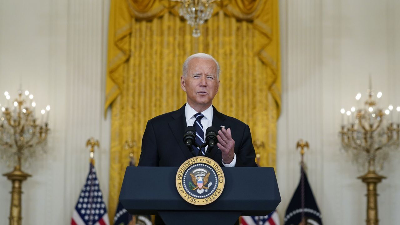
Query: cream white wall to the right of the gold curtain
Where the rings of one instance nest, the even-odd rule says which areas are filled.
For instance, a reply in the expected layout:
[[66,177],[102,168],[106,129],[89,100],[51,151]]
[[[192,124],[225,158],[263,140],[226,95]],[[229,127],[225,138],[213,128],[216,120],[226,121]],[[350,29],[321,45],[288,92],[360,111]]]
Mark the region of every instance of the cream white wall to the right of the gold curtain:
[[[283,218],[298,185],[298,139],[323,222],[365,224],[366,186],[340,152],[340,108],[366,94],[368,75],[382,91],[381,106],[400,105],[400,1],[280,0],[282,114],[278,121],[277,176]],[[365,98],[364,98],[365,100]],[[378,185],[380,224],[400,221],[400,160],[392,155]]]

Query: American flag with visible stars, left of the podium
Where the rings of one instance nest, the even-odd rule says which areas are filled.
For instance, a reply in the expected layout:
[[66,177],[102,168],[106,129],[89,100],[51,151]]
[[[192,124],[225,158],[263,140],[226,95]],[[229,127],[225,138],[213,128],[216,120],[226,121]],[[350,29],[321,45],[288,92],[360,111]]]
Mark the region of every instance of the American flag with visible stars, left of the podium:
[[100,190],[94,165],[90,163],[88,178],[82,187],[72,213],[71,225],[109,225],[106,204]]

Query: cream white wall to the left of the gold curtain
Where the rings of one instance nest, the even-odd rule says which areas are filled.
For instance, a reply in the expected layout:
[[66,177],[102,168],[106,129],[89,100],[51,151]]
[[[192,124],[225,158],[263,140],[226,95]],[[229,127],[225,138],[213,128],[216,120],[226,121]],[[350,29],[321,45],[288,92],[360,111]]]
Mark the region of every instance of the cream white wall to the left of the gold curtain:
[[[107,0],[0,0],[0,103],[22,88],[36,114],[50,104],[49,153],[23,183],[25,225],[70,224],[89,168],[86,140],[100,141],[96,169],[108,201],[110,119],[104,120]],[[4,162],[0,173],[11,171]],[[8,224],[11,182],[0,177],[0,224]]]

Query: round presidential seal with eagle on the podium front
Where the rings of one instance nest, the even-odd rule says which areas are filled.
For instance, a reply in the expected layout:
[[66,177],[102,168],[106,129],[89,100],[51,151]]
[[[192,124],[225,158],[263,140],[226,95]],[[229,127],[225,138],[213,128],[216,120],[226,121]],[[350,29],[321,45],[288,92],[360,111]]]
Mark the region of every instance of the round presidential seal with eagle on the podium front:
[[224,190],[224,172],[208,157],[188,159],[176,173],[176,188],[185,201],[193,205],[207,205],[218,199]]

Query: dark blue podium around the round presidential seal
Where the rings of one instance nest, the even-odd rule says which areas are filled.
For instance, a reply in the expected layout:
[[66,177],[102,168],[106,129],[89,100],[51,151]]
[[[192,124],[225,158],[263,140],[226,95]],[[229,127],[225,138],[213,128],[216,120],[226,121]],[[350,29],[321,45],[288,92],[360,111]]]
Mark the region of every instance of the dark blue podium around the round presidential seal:
[[223,167],[225,187],[208,205],[178,193],[178,167],[127,167],[119,200],[130,214],[158,214],[166,225],[233,225],[240,215],[268,215],[280,203],[272,167]]

